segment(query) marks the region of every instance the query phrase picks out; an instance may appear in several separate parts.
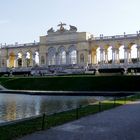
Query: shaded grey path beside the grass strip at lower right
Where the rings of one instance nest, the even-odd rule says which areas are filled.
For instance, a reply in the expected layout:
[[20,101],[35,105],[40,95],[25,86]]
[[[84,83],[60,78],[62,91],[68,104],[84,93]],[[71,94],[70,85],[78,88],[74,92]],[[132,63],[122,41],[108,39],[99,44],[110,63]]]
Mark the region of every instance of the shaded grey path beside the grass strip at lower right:
[[36,132],[19,140],[140,140],[140,101]]

